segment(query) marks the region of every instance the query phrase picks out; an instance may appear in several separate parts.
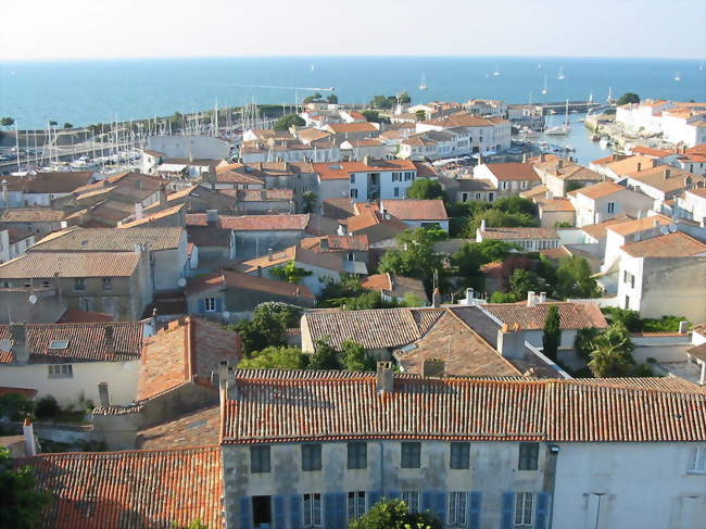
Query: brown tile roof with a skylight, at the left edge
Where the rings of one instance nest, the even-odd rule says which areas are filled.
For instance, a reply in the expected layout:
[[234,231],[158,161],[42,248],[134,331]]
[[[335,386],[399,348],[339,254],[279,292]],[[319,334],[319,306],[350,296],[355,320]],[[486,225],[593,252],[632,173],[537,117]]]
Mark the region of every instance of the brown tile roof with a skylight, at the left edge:
[[[142,322],[25,324],[25,329],[30,364],[138,360],[144,333]],[[50,345],[63,345],[52,343],[56,341],[68,343],[64,349],[51,349]],[[9,325],[0,325],[0,342],[8,343],[11,350],[14,347]],[[0,350],[0,364],[12,362],[12,351]]]

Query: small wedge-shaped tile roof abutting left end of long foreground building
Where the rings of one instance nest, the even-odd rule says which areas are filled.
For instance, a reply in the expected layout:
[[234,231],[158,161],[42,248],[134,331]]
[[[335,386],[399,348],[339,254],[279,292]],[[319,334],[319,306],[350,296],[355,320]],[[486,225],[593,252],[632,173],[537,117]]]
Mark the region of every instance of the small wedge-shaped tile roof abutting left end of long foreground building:
[[140,450],[167,450],[220,442],[220,410],[212,406],[174,420],[140,430],[136,445]]

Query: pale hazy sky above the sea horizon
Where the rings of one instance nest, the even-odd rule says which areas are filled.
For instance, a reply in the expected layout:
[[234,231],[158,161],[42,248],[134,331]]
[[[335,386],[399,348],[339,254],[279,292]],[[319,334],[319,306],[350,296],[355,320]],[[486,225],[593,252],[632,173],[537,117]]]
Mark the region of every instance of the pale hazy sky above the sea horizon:
[[24,0],[2,2],[0,17],[5,21],[0,62],[252,55],[706,58],[704,0]]

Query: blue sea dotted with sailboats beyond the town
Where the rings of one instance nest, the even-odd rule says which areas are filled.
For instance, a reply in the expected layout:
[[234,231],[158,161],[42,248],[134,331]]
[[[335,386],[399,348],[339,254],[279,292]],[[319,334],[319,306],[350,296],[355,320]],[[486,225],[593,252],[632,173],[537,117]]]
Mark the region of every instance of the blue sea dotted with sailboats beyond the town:
[[[314,64],[312,72],[310,66]],[[495,66],[500,76],[490,74]],[[564,80],[557,80],[559,67]],[[679,71],[682,80],[673,80]],[[417,87],[421,75],[428,90]],[[541,96],[547,76],[549,93]],[[247,85],[235,86],[235,85]],[[633,91],[641,97],[706,100],[706,70],[693,60],[562,58],[228,58],[72,62],[0,62],[0,116],[21,128],[49,119],[76,126],[171,115],[223,105],[293,104],[335,87],[341,102],[364,103],[406,89],[414,102],[495,98],[510,103],[587,99]],[[326,95],[326,93],[325,93]]]

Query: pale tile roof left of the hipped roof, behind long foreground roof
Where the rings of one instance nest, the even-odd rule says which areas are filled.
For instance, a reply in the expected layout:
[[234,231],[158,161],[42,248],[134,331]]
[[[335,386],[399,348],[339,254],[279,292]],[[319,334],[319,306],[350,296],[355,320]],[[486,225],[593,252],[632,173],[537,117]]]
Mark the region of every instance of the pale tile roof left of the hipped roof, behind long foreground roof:
[[419,339],[443,313],[443,308],[308,312],[301,325],[308,328],[313,342],[326,339],[333,348],[344,340],[365,349],[400,348]]

